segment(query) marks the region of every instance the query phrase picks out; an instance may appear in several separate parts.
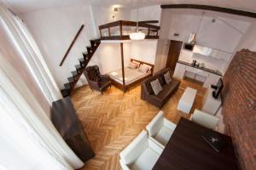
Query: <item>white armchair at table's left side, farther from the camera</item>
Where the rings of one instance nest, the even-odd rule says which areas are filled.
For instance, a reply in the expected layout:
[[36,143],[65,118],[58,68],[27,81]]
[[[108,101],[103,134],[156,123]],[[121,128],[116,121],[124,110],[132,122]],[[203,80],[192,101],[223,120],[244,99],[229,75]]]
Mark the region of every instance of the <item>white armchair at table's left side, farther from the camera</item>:
[[164,149],[171,138],[175,127],[176,124],[164,118],[164,112],[159,111],[158,114],[154,116],[154,119],[149,122],[146,129],[148,131],[149,139],[152,139]]

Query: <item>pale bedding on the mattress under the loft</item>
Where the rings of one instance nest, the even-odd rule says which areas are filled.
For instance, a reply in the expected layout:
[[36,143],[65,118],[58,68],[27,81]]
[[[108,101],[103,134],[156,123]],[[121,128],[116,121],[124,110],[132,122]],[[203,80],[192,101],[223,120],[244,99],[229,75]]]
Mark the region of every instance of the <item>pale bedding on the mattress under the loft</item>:
[[[138,79],[142,77],[146,77],[150,74],[151,72],[143,73],[130,68],[125,68],[125,84],[130,84],[131,82],[135,82]],[[112,71],[108,73],[108,76],[113,78],[116,82],[119,82],[120,84],[123,84],[123,77],[122,77],[122,69],[117,70],[117,71]]]

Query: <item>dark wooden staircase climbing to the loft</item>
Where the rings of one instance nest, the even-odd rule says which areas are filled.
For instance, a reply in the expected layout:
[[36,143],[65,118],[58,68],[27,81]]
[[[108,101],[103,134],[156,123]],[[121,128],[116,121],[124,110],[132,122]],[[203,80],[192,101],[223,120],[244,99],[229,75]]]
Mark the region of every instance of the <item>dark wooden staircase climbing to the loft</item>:
[[64,88],[61,89],[61,94],[63,97],[67,97],[72,93],[73,88],[76,86],[77,82],[79,82],[79,78],[83,74],[85,67],[88,65],[91,57],[96,52],[96,49],[99,47],[100,43],[100,39],[90,40],[90,47],[86,47],[87,53],[83,53],[83,58],[79,59],[79,65],[75,65],[76,70],[71,71],[73,76],[67,78],[68,82],[65,83]]

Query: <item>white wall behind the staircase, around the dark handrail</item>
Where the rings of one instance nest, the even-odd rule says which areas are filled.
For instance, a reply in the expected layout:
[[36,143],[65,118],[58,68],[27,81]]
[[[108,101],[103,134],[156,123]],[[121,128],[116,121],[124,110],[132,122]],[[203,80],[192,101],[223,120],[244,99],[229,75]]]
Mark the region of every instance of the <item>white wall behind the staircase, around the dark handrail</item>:
[[[26,22],[29,30],[41,49],[49,70],[55,77],[59,88],[71,77],[74,65],[79,65],[79,58],[85,47],[90,45],[90,39],[95,38],[94,22],[92,20],[91,8],[88,6],[48,8],[28,14],[22,14],[21,18]],[[67,55],[67,59],[60,67],[59,64],[67,51],[73,37],[84,24],[77,42]],[[85,78],[82,77],[78,85],[82,85]]]

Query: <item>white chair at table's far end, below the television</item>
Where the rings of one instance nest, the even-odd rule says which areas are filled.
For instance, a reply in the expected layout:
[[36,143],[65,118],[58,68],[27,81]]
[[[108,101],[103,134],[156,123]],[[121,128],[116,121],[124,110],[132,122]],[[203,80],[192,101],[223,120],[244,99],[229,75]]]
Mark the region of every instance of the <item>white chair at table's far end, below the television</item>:
[[219,118],[217,116],[212,116],[206,112],[195,110],[193,115],[190,116],[190,120],[203,127],[211,128],[212,130],[218,131]]

